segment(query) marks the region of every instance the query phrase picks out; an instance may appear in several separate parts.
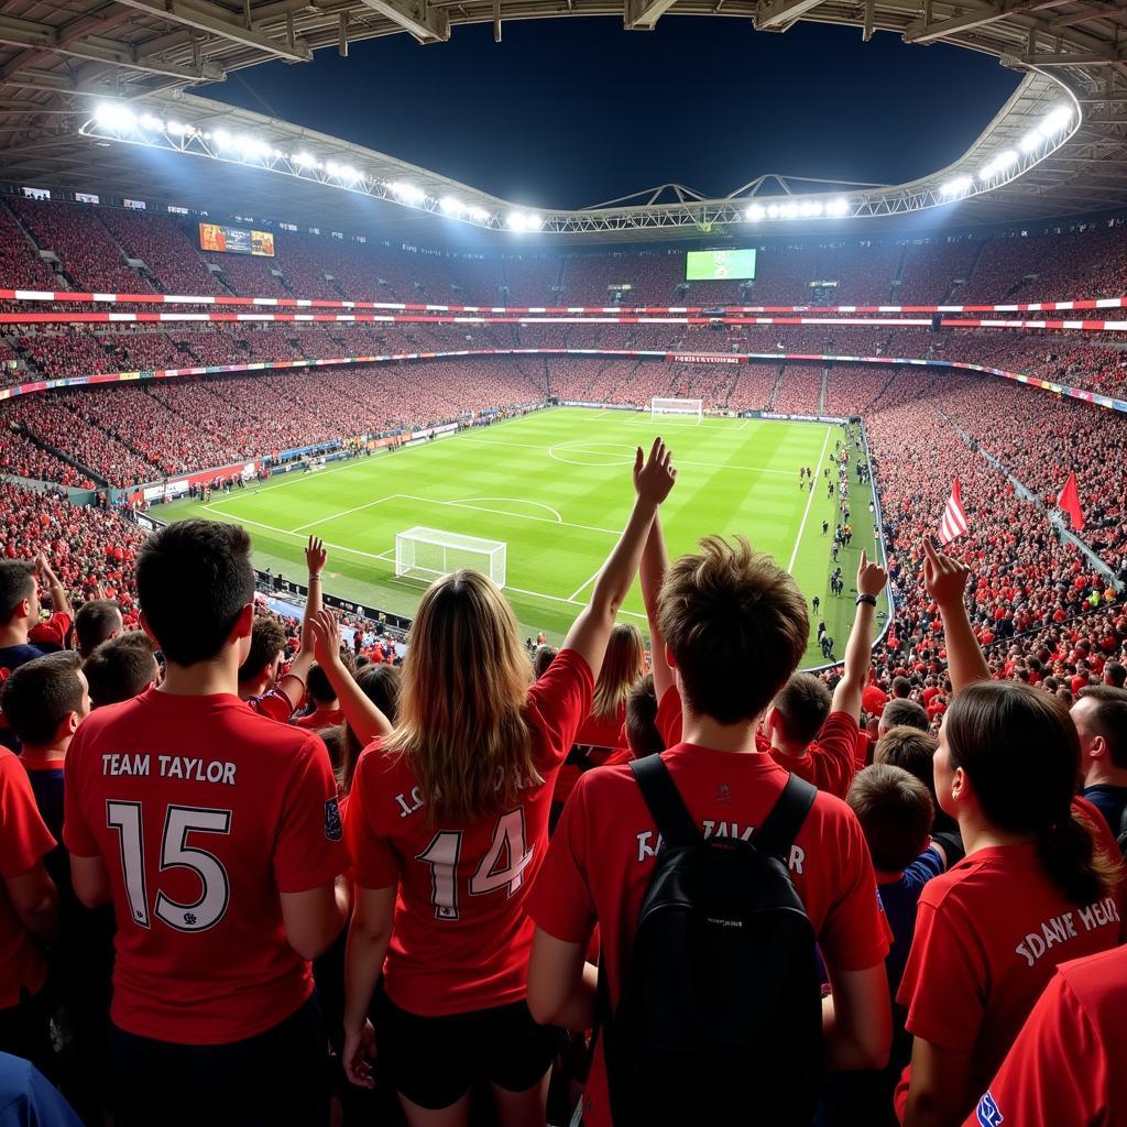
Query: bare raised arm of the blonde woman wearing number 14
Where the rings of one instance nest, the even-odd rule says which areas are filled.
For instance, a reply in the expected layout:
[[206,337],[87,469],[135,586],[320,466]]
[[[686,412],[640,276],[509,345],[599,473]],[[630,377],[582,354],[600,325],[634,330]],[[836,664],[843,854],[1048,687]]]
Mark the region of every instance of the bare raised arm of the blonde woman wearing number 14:
[[660,438],[654,440],[647,459],[642,458],[641,446],[638,447],[633,473],[638,492],[630,520],[595,579],[591,604],[575,620],[564,642],[566,649],[574,649],[584,658],[596,678],[603,666],[614,616],[638,574],[654,517],[677,477],[672,454]]

